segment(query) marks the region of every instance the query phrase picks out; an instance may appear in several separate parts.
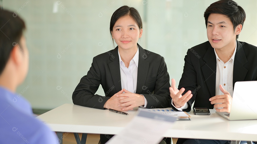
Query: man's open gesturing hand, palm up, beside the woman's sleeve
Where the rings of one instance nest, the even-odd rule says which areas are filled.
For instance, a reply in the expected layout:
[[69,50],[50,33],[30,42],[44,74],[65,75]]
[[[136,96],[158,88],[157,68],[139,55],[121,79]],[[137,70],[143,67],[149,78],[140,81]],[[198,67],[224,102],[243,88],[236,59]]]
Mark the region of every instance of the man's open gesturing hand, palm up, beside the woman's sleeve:
[[191,98],[192,94],[191,91],[187,91],[183,96],[182,93],[185,91],[185,88],[181,88],[178,90],[176,88],[176,81],[175,79],[171,79],[171,87],[170,87],[170,97],[173,100],[173,104],[177,107],[180,108],[186,104]]

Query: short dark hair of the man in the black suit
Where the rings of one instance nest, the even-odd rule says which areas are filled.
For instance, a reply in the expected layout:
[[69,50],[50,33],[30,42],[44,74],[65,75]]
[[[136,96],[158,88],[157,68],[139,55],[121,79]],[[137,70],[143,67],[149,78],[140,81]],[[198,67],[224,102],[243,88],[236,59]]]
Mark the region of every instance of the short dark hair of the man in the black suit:
[[[239,6],[236,2],[232,0],[220,0],[215,3],[212,3],[204,12],[205,25],[207,28],[208,17],[210,14],[222,14],[226,15],[232,22],[234,26],[234,30],[236,26],[242,24],[244,25],[245,21],[245,11]],[[238,35],[236,35],[236,39],[238,39]]]

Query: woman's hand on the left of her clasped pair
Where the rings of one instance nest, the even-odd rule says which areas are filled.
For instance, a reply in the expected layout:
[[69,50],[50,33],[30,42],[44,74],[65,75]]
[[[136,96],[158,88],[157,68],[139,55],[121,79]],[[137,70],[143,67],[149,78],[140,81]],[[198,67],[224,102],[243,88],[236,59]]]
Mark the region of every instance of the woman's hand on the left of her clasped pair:
[[[125,107],[119,107],[119,104],[122,104],[121,102],[119,102],[119,98],[117,97],[118,94],[122,94],[123,93],[123,89],[119,92],[117,92],[116,94],[114,94],[111,98],[109,98],[105,104],[104,104],[104,108],[106,109],[115,109],[115,110],[119,110],[119,111],[124,111],[122,110]],[[127,98],[127,97],[126,97]],[[127,111],[127,110],[126,110]]]

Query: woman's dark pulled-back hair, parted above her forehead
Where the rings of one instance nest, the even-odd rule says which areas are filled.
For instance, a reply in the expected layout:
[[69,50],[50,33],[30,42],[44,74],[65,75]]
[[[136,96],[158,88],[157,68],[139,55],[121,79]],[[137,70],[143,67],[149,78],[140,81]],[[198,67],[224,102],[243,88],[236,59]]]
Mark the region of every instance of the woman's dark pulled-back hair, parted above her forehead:
[[[112,36],[113,26],[117,22],[117,20],[119,18],[121,18],[123,16],[127,16],[127,15],[131,16],[131,18],[133,18],[135,20],[139,29],[143,28],[142,19],[140,17],[139,12],[134,7],[129,7],[129,6],[124,5],[120,8],[118,8],[111,17],[111,22],[110,22],[111,36]],[[114,41],[113,41],[113,45],[114,45]]]

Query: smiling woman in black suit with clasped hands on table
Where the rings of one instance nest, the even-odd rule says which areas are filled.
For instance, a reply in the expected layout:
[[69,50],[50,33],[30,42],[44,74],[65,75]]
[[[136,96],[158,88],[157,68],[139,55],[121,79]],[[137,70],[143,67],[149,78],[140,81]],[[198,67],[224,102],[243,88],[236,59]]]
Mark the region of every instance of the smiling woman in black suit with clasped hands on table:
[[[166,63],[162,56],[137,44],[142,32],[142,20],[135,8],[122,6],[113,13],[110,33],[118,46],[93,58],[87,75],[73,92],[74,104],[120,111],[169,107]],[[95,94],[100,84],[105,96]],[[111,137],[100,135],[100,141],[103,144]]]

